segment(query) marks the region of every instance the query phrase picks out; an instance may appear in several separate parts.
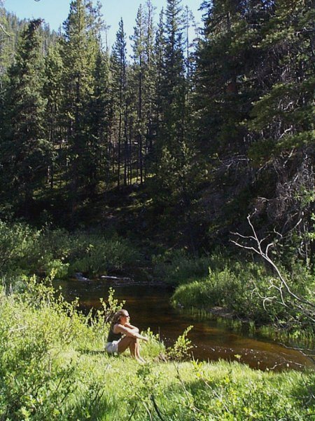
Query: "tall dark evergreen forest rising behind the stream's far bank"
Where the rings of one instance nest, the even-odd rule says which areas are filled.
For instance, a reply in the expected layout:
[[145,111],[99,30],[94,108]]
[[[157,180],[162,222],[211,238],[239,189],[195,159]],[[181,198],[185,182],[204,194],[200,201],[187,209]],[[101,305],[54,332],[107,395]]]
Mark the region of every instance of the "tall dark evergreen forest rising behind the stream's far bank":
[[159,15],[147,0],[111,49],[90,0],[71,1],[58,34],[1,7],[1,219],[73,229],[118,214],[198,253],[254,214],[314,265],[312,2],[200,6],[192,37],[181,0]]

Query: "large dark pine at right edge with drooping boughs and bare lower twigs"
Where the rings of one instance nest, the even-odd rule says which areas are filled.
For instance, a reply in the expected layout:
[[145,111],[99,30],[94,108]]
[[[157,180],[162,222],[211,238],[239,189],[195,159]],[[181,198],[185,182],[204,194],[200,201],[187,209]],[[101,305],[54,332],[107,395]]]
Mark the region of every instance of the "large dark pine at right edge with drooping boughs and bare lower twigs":
[[[277,1],[258,48],[268,60],[258,69],[263,87],[247,123],[248,156],[265,189],[269,225],[314,262],[314,25],[313,2]],[[267,180],[267,182],[266,182]],[[267,187],[267,189],[266,189]]]

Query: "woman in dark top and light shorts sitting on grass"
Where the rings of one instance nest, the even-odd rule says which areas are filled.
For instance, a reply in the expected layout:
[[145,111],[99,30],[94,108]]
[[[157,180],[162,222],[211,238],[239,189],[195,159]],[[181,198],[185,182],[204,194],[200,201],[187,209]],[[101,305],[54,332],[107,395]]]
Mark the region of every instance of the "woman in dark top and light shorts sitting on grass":
[[130,315],[125,309],[121,309],[113,315],[105,349],[109,354],[121,354],[129,348],[134,359],[137,359],[139,363],[145,363],[146,361],[140,356],[139,340],[148,341],[148,338],[140,335],[139,329],[132,326],[129,321]]

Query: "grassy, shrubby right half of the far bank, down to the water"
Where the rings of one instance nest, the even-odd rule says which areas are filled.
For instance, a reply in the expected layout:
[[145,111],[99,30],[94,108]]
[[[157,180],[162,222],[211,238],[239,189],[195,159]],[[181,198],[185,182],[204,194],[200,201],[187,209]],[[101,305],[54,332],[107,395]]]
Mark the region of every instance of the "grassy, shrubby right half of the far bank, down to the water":
[[155,276],[174,286],[176,307],[208,312],[223,307],[235,319],[250,321],[252,326],[276,323],[288,334],[314,340],[314,274],[298,262],[290,265],[290,271],[277,262],[290,291],[310,303],[307,317],[300,303],[281,286],[277,274],[262,263],[222,254],[193,258],[175,251],[155,258]]

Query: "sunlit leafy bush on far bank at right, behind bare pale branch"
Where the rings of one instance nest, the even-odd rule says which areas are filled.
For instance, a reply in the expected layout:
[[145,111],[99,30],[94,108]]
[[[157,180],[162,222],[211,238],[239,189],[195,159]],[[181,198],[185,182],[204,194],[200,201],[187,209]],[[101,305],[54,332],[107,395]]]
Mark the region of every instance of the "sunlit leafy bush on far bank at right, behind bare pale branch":
[[[225,260],[225,267],[223,267],[224,260],[222,259],[208,261],[207,276],[198,278],[190,274],[189,279],[183,279],[180,282],[172,297],[175,306],[202,309],[225,307],[234,312],[235,316],[253,320],[260,325],[275,320],[284,323],[293,316],[290,308],[281,305],[279,300],[265,300],[264,302],[264,297],[272,297],[276,293],[274,288],[270,289],[271,283],[276,286],[279,281],[262,265]],[[178,263],[177,260],[176,263]],[[181,268],[185,265],[186,263]],[[281,270],[285,273],[283,268]],[[315,289],[314,277],[307,272],[307,269],[295,264],[292,274],[286,274],[286,277],[293,292],[314,302],[314,292],[312,292]],[[298,316],[302,320],[302,314]],[[307,326],[307,321],[304,323]]]

